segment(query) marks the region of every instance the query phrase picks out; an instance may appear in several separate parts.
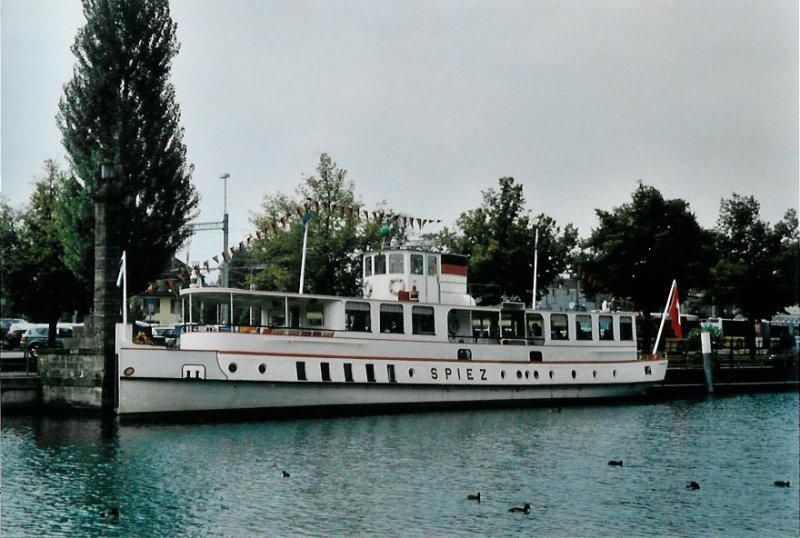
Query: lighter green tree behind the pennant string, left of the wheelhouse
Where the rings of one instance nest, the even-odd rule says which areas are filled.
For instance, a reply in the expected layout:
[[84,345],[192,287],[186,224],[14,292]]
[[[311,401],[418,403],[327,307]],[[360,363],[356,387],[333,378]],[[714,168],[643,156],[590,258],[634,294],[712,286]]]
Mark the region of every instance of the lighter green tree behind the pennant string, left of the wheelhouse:
[[[263,213],[253,219],[264,237],[255,242],[250,253],[253,274],[249,281],[261,289],[299,289],[301,216],[310,212],[304,291],[355,295],[361,278],[361,256],[380,243],[381,221],[359,217],[354,189],[347,171],[323,153],[317,175],[307,177],[294,198],[283,194],[267,197]],[[389,214],[386,210],[383,213]]]

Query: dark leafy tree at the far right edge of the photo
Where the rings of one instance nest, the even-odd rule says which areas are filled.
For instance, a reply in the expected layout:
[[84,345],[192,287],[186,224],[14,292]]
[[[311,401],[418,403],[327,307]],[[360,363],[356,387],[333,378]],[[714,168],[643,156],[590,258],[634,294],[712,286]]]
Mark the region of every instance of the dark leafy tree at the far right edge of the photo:
[[797,302],[797,215],[772,227],[752,196],[723,199],[715,230],[718,261],[711,293],[721,306],[751,319],[769,318]]

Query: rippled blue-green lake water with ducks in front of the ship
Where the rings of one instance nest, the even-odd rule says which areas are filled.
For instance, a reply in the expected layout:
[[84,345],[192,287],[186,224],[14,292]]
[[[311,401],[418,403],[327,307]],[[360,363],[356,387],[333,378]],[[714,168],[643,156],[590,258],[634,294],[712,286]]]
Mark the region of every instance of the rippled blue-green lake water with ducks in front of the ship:
[[211,425],[4,416],[0,531],[798,536],[799,438],[795,393]]

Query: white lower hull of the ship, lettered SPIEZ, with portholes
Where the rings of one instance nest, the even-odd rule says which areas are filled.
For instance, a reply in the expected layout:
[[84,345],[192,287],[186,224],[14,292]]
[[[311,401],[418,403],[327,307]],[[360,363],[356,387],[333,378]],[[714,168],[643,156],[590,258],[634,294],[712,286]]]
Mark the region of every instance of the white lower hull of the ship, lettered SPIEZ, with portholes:
[[547,405],[636,396],[666,372],[666,361],[435,361],[137,347],[120,350],[119,366],[123,416]]

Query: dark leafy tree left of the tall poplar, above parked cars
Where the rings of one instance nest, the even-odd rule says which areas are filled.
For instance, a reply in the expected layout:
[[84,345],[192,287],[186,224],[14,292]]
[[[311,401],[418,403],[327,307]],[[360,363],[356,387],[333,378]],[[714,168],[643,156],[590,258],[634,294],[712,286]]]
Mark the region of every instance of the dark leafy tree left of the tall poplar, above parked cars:
[[[86,288],[62,262],[61,221],[56,208],[64,180],[56,164],[45,161],[45,175],[36,183],[29,207],[18,215],[11,230],[2,226],[3,296],[29,318],[50,325],[51,345],[62,314],[86,311],[91,302]],[[4,208],[3,215],[5,222],[13,212]]]

